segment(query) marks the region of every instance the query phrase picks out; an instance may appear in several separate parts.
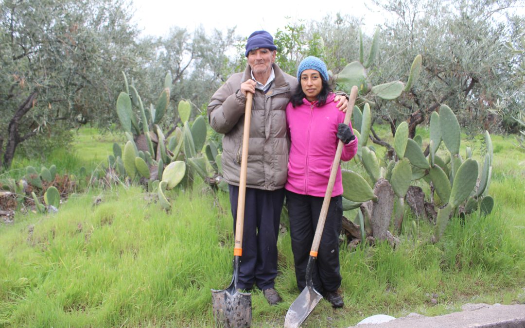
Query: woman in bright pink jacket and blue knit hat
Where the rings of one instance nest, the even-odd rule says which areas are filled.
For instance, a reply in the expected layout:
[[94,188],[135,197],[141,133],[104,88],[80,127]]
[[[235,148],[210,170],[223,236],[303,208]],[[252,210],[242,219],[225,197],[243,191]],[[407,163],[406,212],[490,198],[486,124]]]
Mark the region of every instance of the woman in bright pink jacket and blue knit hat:
[[[339,140],[345,143],[341,160],[349,161],[357,151],[358,140],[351,125],[342,123],[344,112],[333,103],[334,93],[328,84],[324,62],[312,56],[305,58],[297,70],[297,79],[299,85],[286,108],[291,146],[285,189],[297,287],[303,290],[310,247],[337,144]],[[312,274],[314,288],[334,308],[343,306],[338,292],[341,285],[339,232],[343,215],[342,193],[339,168]]]

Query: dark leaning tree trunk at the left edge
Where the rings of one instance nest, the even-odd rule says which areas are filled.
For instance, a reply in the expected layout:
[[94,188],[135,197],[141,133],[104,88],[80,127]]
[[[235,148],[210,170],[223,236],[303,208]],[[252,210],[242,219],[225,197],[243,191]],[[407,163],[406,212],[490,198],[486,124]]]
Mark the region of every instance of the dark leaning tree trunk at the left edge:
[[13,118],[9,122],[9,126],[7,128],[7,143],[5,145],[4,161],[2,163],[6,170],[11,166],[11,163],[13,163],[16,147],[21,142],[36,134],[36,132],[31,131],[23,137],[20,137],[18,127],[20,125],[20,121],[24,118],[24,115],[34,107],[37,94],[38,92],[36,90],[31,92],[29,97],[27,97],[20,107],[18,107],[15,115],[13,115]]

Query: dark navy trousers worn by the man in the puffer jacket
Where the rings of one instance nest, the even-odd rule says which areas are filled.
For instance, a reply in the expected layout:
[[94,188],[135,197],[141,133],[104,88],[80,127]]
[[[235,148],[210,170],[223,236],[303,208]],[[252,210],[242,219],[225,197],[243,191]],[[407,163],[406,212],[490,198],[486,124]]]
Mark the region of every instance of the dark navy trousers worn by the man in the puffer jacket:
[[[237,223],[239,187],[229,185],[234,234]],[[244,207],[243,255],[237,287],[250,290],[253,284],[263,290],[274,288],[277,277],[277,237],[285,189],[266,191],[246,188]]]

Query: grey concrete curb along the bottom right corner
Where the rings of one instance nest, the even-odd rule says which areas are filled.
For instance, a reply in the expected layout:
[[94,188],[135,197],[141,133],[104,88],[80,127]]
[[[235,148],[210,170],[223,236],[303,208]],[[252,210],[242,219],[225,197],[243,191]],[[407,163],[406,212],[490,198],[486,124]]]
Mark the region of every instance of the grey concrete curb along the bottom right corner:
[[360,324],[349,328],[524,328],[525,305],[465,304],[461,312],[439,316],[424,316],[411,313],[402,318],[379,324]]

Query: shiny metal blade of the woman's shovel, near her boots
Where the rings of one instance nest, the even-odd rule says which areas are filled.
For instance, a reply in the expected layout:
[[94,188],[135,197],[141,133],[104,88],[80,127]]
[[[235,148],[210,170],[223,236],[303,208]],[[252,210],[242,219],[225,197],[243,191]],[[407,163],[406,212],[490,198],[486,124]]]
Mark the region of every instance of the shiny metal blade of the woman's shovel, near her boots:
[[299,294],[299,297],[290,305],[286,313],[285,327],[299,327],[322,298],[322,295],[317,290],[307,285]]

